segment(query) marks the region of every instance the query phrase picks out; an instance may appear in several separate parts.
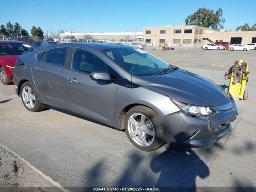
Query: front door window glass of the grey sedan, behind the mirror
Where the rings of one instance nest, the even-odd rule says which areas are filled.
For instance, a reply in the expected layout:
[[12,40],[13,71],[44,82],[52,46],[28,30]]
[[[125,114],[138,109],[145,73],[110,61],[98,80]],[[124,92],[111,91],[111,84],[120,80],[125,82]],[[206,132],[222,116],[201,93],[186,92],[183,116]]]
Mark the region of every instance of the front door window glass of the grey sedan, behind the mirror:
[[[112,52],[106,54],[113,58]],[[109,72],[109,66],[102,61],[98,56],[79,48],[74,49],[72,58],[72,69],[78,70],[87,74],[96,71]]]

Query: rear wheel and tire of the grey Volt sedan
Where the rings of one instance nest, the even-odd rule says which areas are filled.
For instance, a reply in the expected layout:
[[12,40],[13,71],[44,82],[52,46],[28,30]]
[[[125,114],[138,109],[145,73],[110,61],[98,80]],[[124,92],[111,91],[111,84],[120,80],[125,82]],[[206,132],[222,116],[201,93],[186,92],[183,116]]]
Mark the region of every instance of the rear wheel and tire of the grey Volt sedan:
[[27,110],[32,112],[40,111],[44,106],[40,103],[39,94],[30,82],[21,86],[21,100]]

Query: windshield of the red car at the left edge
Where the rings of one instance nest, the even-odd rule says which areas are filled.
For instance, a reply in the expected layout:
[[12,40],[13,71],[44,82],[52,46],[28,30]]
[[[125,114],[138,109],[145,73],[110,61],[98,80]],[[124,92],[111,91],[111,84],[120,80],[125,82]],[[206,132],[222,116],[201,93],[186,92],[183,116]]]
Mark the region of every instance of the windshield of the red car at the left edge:
[[36,50],[30,44],[0,44],[0,55],[23,55]]

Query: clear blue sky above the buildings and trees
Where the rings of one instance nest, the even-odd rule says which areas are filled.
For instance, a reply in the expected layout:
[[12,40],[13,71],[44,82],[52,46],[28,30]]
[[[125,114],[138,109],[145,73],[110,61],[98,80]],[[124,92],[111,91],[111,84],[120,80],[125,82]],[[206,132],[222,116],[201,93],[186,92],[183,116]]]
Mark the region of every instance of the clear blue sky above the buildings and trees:
[[[256,0],[8,0],[1,3],[0,24],[18,22],[30,33],[142,32],[144,26],[185,25],[198,8],[223,9],[225,29],[256,23]],[[12,9],[13,8],[13,9]]]

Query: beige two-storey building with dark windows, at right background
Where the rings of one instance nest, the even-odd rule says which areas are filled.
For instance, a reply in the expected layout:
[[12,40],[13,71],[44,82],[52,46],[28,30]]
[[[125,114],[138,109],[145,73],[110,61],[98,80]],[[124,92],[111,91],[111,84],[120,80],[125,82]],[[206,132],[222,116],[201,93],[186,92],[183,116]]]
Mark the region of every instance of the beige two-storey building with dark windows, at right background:
[[198,46],[216,41],[232,44],[256,42],[256,32],[231,32],[210,30],[200,26],[163,26],[144,27],[144,42],[150,46],[167,44],[168,46]]

